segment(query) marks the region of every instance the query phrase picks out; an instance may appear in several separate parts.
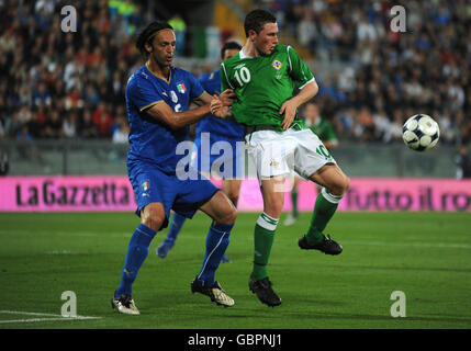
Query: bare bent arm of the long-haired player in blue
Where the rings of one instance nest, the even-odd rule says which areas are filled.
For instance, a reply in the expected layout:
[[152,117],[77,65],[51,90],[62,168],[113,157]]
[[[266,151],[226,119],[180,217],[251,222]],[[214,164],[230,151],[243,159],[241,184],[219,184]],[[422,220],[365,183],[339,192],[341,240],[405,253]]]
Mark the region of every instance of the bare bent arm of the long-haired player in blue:
[[211,111],[210,104],[204,104],[197,109],[175,112],[167,103],[159,101],[159,103],[145,110],[145,113],[154,120],[167,124],[170,128],[178,129],[186,125],[199,122],[210,114]]

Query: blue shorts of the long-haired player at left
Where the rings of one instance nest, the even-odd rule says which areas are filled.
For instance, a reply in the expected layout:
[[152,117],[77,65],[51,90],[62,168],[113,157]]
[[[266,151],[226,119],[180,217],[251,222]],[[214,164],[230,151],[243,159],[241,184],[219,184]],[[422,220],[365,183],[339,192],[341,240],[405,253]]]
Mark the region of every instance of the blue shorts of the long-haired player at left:
[[218,190],[210,180],[200,176],[198,180],[180,180],[167,174],[155,165],[137,161],[127,165],[127,174],[136,196],[136,215],[149,203],[161,203],[166,218],[160,229],[167,228],[170,210],[192,218],[194,213]]

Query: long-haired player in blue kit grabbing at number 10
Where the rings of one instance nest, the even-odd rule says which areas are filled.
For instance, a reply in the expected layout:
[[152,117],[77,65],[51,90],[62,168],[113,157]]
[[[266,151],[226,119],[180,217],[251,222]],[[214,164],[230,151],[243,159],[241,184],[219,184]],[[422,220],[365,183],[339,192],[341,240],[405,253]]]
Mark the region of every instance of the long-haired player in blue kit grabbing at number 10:
[[[213,218],[208,231],[205,256],[192,293],[201,293],[217,305],[229,307],[229,297],[214,280],[228,242],[237,212],[228,197],[200,174],[182,180],[177,155],[179,143],[188,139],[188,125],[211,113],[212,97],[188,71],[171,65],[176,38],[172,27],[161,21],[150,23],[138,36],[136,47],[146,64],[130,78],[126,106],[130,120],[127,172],[133,185],[141,224],[131,237],[124,268],[112,307],[138,315],[132,285],[144,263],[156,233],[168,226],[170,210],[191,218],[201,210]],[[229,104],[231,91],[220,95]],[[188,110],[190,101],[199,106]]]

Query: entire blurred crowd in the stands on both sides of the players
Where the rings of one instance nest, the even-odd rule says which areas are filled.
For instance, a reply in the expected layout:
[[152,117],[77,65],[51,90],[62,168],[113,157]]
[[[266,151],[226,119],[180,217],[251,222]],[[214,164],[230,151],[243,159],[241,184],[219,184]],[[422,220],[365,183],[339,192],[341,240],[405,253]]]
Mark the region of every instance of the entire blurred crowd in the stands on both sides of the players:
[[[0,1],[0,138],[109,138],[125,143],[124,91],[141,65],[132,35],[155,18],[147,1],[76,1],[77,32],[60,30],[65,1]],[[390,29],[392,5],[406,32]],[[389,143],[406,117],[439,122],[442,143],[471,144],[471,3],[258,0],[316,61],[341,138]],[[289,43],[293,44],[293,43]],[[195,68],[197,70],[200,68]],[[335,107],[332,107],[335,106]]]

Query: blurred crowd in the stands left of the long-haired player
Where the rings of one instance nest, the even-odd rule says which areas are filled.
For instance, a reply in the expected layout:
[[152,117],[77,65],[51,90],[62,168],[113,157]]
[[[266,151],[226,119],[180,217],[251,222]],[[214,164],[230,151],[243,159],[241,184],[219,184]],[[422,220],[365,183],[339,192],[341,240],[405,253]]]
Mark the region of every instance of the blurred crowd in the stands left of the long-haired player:
[[[109,138],[127,143],[124,92],[145,24],[136,0],[0,2],[0,138]],[[68,22],[69,23],[69,22]]]

